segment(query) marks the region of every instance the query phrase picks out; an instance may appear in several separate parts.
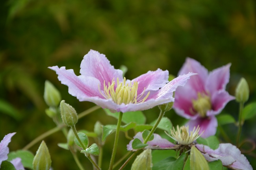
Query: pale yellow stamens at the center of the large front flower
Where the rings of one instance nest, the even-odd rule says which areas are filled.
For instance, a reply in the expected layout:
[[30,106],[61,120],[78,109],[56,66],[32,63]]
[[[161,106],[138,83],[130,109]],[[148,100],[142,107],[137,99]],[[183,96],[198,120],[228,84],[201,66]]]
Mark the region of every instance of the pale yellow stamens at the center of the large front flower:
[[[100,91],[100,85],[98,86]],[[119,79],[117,78],[117,88],[115,88],[115,80],[112,80],[112,83],[110,84],[108,82],[108,86],[105,84],[104,80],[104,94],[100,91],[101,95],[105,97],[106,99],[112,99],[117,104],[129,104],[129,103],[143,103],[147,98],[150,92],[144,97],[143,99],[139,100],[144,92],[138,97],[137,96],[137,90],[138,90],[138,82],[130,82],[130,84],[126,84],[126,78],[124,77],[124,82],[119,83]]]

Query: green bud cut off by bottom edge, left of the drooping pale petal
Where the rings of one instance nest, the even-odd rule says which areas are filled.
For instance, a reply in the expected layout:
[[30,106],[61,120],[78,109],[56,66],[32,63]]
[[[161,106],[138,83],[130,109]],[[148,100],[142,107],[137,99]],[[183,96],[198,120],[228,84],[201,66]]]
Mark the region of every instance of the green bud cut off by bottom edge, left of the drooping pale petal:
[[152,170],[152,166],[151,149],[147,149],[136,157],[131,170]]

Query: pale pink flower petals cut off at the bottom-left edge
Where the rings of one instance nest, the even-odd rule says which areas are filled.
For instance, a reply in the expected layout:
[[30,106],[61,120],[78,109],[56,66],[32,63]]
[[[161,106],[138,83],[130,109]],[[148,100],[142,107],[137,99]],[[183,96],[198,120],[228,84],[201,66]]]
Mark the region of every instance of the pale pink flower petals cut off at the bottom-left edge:
[[[3,161],[6,161],[8,159],[8,154],[9,154],[9,148],[8,148],[8,144],[11,142],[11,137],[13,137],[13,135],[15,135],[16,132],[14,133],[9,133],[7,135],[5,135],[4,139],[1,141],[0,143],[0,167]],[[11,163],[14,165],[14,167],[17,170],[24,170],[24,167],[21,163],[21,159],[20,158],[15,158],[11,161]]]

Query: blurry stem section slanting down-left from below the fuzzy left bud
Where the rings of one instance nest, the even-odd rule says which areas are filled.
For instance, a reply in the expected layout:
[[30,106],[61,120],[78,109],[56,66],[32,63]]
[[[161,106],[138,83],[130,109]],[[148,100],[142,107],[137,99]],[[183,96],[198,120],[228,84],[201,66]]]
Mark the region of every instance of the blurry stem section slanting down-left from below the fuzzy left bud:
[[33,141],[31,141],[29,144],[27,144],[22,150],[28,150],[31,148],[34,144],[36,144],[39,141],[42,141],[45,137],[52,135],[53,133],[58,132],[62,128],[64,128],[66,125],[64,123],[59,124],[59,126],[56,126],[55,128],[48,130],[47,132],[41,134],[37,138],[35,138]]

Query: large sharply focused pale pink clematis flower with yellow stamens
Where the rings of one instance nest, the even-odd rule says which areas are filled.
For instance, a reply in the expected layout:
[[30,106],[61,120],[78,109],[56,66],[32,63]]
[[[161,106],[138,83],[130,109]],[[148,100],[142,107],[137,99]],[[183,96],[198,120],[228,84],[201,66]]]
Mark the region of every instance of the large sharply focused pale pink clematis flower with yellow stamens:
[[173,91],[184,86],[195,73],[181,75],[168,84],[168,71],[158,69],[133,79],[126,80],[122,71],[111,66],[105,55],[91,50],[84,56],[80,74],[72,69],[49,67],[56,71],[62,84],[79,101],[90,101],[108,108],[111,112],[147,110],[159,104],[173,102]]

